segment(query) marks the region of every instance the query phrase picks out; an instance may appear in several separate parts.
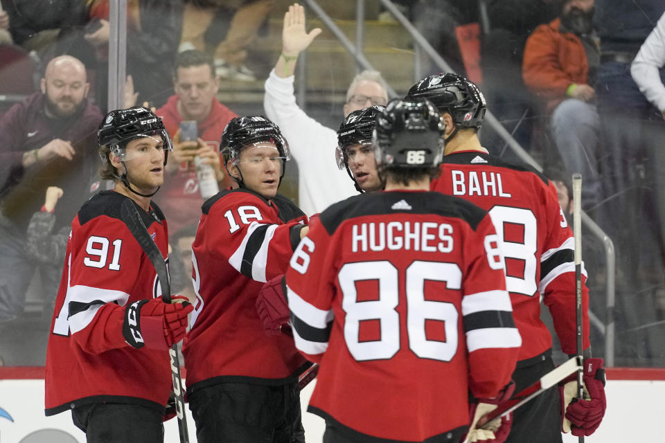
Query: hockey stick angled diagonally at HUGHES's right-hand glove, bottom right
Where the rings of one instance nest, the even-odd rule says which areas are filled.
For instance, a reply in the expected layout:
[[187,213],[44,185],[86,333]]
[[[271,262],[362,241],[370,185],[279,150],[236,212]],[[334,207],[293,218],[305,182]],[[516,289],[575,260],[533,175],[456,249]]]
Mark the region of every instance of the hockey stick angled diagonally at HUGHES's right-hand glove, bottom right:
[[493,419],[508,415],[509,413],[513,412],[513,410],[519,408],[531,399],[538,397],[538,395],[542,394],[552,386],[556,386],[560,381],[568,377],[570,374],[579,370],[582,370],[582,361],[579,357],[575,356],[566,363],[563,363],[550,372],[547,372],[547,374],[544,374],[542,377],[540,377],[540,380],[536,381],[528,388],[524,388],[517,394],[513,395],[511,399],[500,403],[495,410],[480,417],[476,427],[484,428]]

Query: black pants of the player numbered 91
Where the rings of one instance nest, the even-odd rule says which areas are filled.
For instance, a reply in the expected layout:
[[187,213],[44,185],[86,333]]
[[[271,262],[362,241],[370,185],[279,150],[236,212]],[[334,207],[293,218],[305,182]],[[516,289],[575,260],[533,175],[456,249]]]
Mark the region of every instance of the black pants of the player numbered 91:
[[96,403],[71,410],[87,443],[159,443],[164,441],[162,415],[134,404]]

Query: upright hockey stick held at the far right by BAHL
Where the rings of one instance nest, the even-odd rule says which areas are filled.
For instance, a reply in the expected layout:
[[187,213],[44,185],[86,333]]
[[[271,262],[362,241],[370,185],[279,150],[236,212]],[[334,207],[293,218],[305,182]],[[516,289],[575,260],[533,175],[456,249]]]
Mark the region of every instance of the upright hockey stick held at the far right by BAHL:
[[[575,236],[575,320],[577,327],[577,356],[580,361],[583,353],[582,341],[582,174],[573,174],[573,235]],[[582,368],[577,371],[577,398],[584,397]],[[579,437],[580,443],[584,437]]]

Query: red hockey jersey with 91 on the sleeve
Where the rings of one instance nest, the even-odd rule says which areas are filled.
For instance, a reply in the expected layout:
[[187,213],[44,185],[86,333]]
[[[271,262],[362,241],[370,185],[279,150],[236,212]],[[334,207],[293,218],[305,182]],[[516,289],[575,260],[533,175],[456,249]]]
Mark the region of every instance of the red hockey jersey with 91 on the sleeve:
[[[124,307],[161,296],[154,267],[121,219],[125,199],[100,192],[72,221],[46,350],[46,415],[101,401],[163,411],[168,401],[168,352],[123,338]],[[161,210],[137,208],[166,257]]]

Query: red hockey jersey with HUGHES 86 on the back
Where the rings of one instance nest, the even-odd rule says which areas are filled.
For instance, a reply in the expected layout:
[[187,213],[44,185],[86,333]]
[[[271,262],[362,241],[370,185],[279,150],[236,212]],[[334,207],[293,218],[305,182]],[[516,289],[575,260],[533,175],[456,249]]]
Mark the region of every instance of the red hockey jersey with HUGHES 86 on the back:
[[453,441],[470,422],[468,392],[495,397],[521,344],[490,217],[393,191],[320,221],[286,275],[296,347],[321,362],[310,412],[349,437]]

